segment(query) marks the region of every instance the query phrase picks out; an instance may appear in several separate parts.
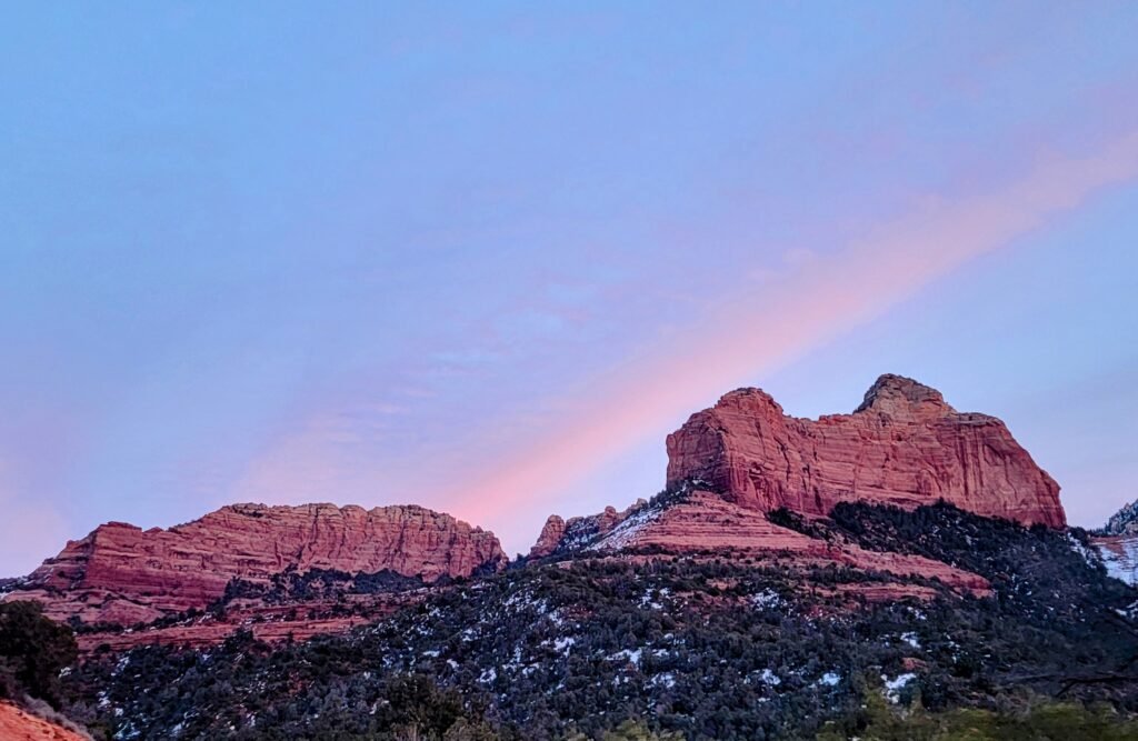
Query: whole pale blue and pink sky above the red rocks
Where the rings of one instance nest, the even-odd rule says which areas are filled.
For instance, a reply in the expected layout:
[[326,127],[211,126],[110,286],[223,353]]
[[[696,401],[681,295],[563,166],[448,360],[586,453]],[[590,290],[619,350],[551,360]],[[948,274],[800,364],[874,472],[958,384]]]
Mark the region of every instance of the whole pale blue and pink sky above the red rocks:
[[0,575],[419,503],[525,552],[760,386],[1138,499],[1138,6],[0,9]]

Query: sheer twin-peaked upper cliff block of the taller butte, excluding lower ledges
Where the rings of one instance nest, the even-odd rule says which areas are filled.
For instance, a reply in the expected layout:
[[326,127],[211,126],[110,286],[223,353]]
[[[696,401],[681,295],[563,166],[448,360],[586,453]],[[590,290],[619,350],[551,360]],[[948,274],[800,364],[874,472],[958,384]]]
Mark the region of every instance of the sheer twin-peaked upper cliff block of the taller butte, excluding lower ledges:
[[827,514],[839,502],[946,500],[986,517],[1063,527],[1058,485],[1000,420],[882,376],[852,414],[787,417],[765,392],[732,392],[668,436],[668,481],[703,480],[740,507]]

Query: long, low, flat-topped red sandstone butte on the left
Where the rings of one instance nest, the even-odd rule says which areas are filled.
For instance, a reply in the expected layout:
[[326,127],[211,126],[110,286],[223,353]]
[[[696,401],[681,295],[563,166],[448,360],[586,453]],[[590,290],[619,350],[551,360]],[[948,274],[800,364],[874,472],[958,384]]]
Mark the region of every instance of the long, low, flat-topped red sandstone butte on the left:
[[493,533],[421,507],[233,504],[170,529],[101,525],[7,599],[40,600],[56,619],[133,624],[205,608],[231,579],[267,583],[290,568],[389,569],[432,582],[506,560]]

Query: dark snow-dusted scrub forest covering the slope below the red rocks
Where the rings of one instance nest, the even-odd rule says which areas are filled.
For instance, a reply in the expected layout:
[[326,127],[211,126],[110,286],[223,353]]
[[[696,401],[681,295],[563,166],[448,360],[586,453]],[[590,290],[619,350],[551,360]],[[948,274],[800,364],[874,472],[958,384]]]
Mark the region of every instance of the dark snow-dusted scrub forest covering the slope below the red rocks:
[[[1138,595],[1086,558],[1079,534],[947,505],[841,507],[809,527],[956,563],[993,594],[914,579],[940,596],[877,603],[863,587],[896,577],[803,571],[776,554],[535,562],[348,635],[97,654],[68,677],[71,710],[121,739],[398,739],[413,727],[452,741],[1016,738],[1015,723],[1042,722],[1023,711],[1034,697],[1075,702],[1055,706],[1056,723],[1083,723],[1070,727],[1128,727],[1082,702],[1138,710]],[[424,707],[447,708],[446,721],[429,725]],[[953,735],[962,723],[989,736]]]

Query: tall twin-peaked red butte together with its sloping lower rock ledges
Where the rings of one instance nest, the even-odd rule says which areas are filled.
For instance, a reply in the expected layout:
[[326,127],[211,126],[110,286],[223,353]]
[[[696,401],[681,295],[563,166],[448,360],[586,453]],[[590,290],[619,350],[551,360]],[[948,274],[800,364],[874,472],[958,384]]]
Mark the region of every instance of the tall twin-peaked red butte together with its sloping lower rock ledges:
[[685,488],[685,497],[569,520],[553,516],[530,555],[629,546],[778,551],[807,562],[937,577],[976,592],[986,587],[976,575],[827,544],[778,527],[766,513],[786,508],[824,517],[839,502],[913,509],[945,500],[1023,525],[1065,524],[1058,485],[1001,421],[957,412],[939,392],[899,376],[877,379],[852,414],[817,421],[787,417],[760,389],[739,389],[693,414],[667,445],[668,486]]

